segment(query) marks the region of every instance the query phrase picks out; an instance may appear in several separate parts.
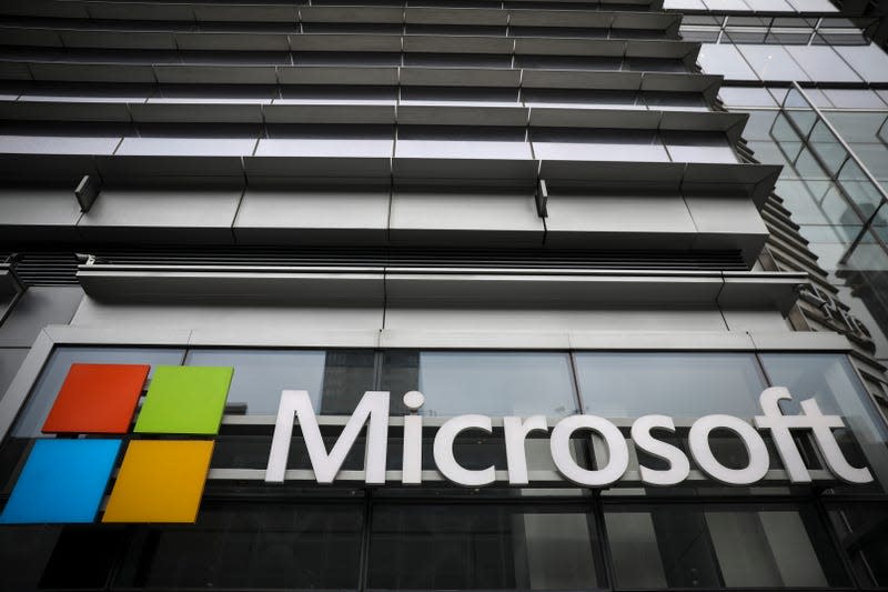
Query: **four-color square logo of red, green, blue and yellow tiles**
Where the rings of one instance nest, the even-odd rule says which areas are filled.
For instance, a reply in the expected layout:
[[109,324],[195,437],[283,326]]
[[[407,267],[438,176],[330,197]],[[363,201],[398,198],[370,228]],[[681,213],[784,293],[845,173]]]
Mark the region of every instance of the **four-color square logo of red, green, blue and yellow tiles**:
[[[150,368],[71,364],[0,523],[94,522]],[[102,522],[194,522],[232,368],[155,368]],[[175,437],[189,435],[182,439]]]

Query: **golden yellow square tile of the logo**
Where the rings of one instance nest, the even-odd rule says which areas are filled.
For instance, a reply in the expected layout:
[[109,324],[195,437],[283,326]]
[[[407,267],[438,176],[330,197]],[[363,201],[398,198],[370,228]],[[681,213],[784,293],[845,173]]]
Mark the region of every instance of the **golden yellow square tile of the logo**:
[[133,440],[102,522],[194,522],[211,440]]

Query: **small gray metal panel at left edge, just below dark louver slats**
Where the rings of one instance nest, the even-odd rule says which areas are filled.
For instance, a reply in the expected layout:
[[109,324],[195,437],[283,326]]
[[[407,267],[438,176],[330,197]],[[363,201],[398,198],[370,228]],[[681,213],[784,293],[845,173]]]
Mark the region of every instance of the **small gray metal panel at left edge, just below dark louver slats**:
[[43,327],[70,322],[82,299],[79,285],[29,288],[0,324],[0,347],[30,348]]

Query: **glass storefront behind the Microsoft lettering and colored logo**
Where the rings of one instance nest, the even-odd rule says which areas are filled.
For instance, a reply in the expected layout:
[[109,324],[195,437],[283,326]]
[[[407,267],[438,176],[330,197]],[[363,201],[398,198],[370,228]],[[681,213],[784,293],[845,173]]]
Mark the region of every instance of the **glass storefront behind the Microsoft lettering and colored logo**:
[[[885,423],[855,370],[838,353],[507,352],[416,350],[234,350],[60,347],[0,448],[6,503],[52,401],[73,362],[234,368],[225,418],[195,524],[0,526],[3,586],[162,590],[660,590],[869,589],[888,584]],[[613,420],[629,438],[646,414],[675,419],[658,438],[682,450],[694,418],[722,413],[751,421],[768,387],[793,394],[781,411],[814,398],[841,415],[836,440],[875,482],[790,484],[769,475],[754,486],[697,476],[679,486],[618,482],[604,490],[568,482],[458,488],[441,480],[405,486],[341,480],[284,484],[238,479],[226,470],[264,470],[280,391],[305,389],[319,415],[346,415],[364,391],[425,395],[420,414],[435,422],[467,413],[549,418],[575,413]],[[231,421],[231,418],[241,418]],[[249,420],[245,421],[244,420]],[[389,429],[387,469],[400,471],[402,428]],[[497,431],[500,430],[500,431]],[[432,433],[423,433],[423,469],[434,471]],[[339,437],[323,432],[327,450]],[[554,471],[546,434],[528,438],[531,471]],[[783,464],[763,437],[773,473]],[[95,438],[95,437],[90,437]],[[824,472],[814,439],[796,433],[811,471]],[[342,469],[360,472],[362,435]],[[577,433],[574,461],[595,469],[599,442]],[[729,431],[714,431],[713,454],[726,466],[749,463]],[[633,449],[633,446],[629,446]],[[294,431],[287,469],[307,470]],[[507,469],[502,430],[462,433],[454,455],[466,469]],[[660,468],[662,459],[632,453]],[[659,464],[658,464],[659,463]],[[221,470],[221,471],[220,471]]]

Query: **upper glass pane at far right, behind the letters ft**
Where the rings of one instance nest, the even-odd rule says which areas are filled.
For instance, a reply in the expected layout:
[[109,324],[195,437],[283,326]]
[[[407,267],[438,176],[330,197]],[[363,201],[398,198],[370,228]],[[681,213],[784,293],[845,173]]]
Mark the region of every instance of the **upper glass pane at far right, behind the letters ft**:
[[[791,402],[785,413],[800,413],[799,403],[814,398],[826,414],[841,415],[849,430],[835,430],[845,456],[852,466],[868,466],[882,489],[888,485],[888,429],[864,391],[845,355],[763,354],[761,364],[770,383],[786,387]],[[842,492],[871,491],[870,488],[841,488]]]

